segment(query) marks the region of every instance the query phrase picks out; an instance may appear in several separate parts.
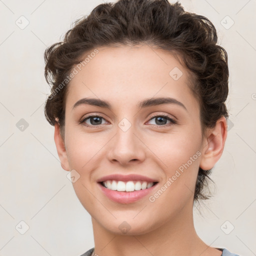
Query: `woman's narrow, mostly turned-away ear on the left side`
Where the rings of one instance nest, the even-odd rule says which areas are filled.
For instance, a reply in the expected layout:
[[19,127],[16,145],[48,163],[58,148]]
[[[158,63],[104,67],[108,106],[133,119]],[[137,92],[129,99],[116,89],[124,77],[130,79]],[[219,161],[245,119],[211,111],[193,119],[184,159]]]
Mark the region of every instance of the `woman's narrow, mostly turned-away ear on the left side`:
[[69,171],[70,169],[69,169],[69,164],[68,164],[67,155],[66,155],[65,143],[63,141],[63,138],[60,135],[60,128],[59,128],[58,122],[55,123],[54,128],[55,128],[54,141],[56,144],[61,167],[64,170]]

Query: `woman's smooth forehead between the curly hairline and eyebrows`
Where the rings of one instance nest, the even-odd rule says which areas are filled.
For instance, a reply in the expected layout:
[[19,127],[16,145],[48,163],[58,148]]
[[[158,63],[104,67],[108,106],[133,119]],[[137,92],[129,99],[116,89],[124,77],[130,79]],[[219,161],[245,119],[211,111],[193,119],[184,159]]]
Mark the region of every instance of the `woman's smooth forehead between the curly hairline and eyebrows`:
[[154,96],[173,97],[186,108],[198,107],[189,88],[189,72],[170,52],[148,45],[98,47],[96,54],[91,52],[74,66],[78,72],[68,84],[66,107],[82,97],[136,105]]

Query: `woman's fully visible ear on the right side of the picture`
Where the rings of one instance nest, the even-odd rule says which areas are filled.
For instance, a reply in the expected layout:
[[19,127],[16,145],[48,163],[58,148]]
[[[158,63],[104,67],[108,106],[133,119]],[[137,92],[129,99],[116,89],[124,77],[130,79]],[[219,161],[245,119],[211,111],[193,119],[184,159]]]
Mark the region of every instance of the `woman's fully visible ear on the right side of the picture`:
[[214,126],[207,132],[206,138],[203,140],[202,157],[200,167],[203,170],[213,168],[214,164],[222,155],[224,144],[227,136],[226,118],[219,118]]

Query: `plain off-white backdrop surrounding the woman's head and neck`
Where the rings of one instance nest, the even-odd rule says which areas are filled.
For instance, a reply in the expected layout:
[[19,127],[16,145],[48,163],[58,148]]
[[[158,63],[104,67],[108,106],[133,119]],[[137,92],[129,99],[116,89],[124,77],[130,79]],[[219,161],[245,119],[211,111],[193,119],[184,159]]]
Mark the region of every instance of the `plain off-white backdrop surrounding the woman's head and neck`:
[[[89,214],[59,163],[43,114],[43,52],[103,0],[0,0],[0,255],[80,255],[93,247]],[[255,0],[181,0],[208,17],[227,50],[229,131],[211,175],[214,197],[194,210],[210,246],[256,255]],[[21,29],[16,20],[29,24]],[[234,24],[230,26],[232,20]],[[222,20],[222,21],[221,21]],[[254,24],[254,25],[253,25]],[[225,27],[226,28],[225,28]],[[25,119],[28,127],[16,126]],[[18,123],[19,124],[19,123]],[[233,125],[233,126],[232,126]],[[25,231],[25,224],[29,226]],[[229,222],[225,222],[228,220]],[[224,223],[224,224],[223,224]],[[234,229],[230,232],[232,225]],[[16,228],[15,228],[16,227]],[[230,232],[229,234],[226,234]]]

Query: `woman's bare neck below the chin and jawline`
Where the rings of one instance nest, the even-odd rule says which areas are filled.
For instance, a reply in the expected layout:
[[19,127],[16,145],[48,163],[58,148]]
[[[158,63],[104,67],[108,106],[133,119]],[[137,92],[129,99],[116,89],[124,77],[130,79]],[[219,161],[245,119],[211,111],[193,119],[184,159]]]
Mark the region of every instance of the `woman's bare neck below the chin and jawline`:
[[99,256],[220,256],[221,251],[206,245],[196,234],[192,205],[156,229],[139,235],[109,232],[92,218],[94,255]]

